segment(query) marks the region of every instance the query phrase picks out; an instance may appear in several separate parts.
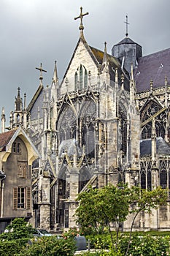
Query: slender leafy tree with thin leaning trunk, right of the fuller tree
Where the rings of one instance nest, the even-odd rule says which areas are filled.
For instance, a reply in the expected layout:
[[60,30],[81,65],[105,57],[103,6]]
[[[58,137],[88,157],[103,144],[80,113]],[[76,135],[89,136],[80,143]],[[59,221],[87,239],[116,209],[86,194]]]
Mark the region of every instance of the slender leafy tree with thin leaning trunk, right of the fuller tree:
[[[134,227],[134,222],[136,217],[141,211],[144,211],[147,214],[150,214],[152,209],[157,209],[159,206],[166,205],[167,200],[167,190],[162,189],[161,187],[157,187],[152,191],[141,189],[139,187],[133,188],[135,193],[135,197],[131,200],[131,203],[134,203],[133,209],[130,213],[134,213],[134,219],[131,222],[131,231],[128,240],[128,248],[126,250],[125,255],[128,255],[128,249],[131,244],[131,234]],[[136,202],[134,201],[136,200]]]

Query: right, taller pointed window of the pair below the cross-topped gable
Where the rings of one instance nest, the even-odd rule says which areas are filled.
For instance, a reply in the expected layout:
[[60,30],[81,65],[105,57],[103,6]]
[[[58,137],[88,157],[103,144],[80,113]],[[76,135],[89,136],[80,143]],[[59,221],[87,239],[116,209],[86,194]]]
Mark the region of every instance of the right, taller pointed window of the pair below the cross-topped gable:
[[85,146],[85,154],[88,157],[95,156],[95,120],[96,104],[92,100],[87,101],[81,118],[80,145]]

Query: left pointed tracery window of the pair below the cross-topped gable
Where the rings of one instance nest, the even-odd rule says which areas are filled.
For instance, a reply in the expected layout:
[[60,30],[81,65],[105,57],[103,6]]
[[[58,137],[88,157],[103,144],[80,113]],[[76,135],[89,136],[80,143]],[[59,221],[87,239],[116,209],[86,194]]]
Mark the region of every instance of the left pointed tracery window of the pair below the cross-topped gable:
[[74,111],[69,105],[63,109],[58,120],[58,140],[61,143],[63,140],[76,138],[77,121]]

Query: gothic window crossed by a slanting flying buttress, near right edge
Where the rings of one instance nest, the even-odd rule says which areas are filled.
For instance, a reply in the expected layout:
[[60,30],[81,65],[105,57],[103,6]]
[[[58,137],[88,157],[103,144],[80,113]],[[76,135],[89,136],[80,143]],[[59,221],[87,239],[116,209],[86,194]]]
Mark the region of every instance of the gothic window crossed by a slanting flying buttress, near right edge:
[[[147,121],[147,119],[154,117],[155,118],[155,132],[156,137],[165,138],[165,120],[166,120],[166,113],[161,112],[157,114],[158,111],[161,110],[161,106],[158,103],[151,101],[147,104],[147,106],[142,110],[141,113],[141,120],[142,122]],[[145,124],[144,128],[142,129],[142,139],[149,139],[151,138],[152,134],[152,120],[148,120],[147,124]]]

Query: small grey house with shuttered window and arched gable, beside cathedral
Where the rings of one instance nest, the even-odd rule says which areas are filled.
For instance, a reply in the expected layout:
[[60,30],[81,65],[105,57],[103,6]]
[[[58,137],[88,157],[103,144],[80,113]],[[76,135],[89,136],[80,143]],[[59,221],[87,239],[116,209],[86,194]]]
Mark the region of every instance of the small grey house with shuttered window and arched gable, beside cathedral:
[[0,233],[15,217],[33,217],[31,165],[38,157],[21,127],[0,134]]

